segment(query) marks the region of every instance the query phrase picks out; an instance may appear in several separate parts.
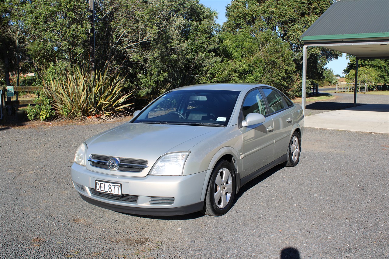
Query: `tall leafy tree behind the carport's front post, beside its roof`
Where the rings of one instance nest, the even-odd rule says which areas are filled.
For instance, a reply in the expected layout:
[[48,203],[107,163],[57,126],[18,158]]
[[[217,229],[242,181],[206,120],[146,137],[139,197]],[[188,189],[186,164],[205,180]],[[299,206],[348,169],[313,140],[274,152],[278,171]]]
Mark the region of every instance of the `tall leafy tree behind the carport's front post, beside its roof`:
[[[228,20],[223,24],[223,30],[231,33],[248,30],[252,37],[271,30],[290,44],[296,70],[300,73],[303,46],[300,37],[332,2],[332,0],[233,0],[227,5]],[[322,73],[326,63],[340,55],[339,52],[324,48],[308,49],[308,78],[323,79]]]

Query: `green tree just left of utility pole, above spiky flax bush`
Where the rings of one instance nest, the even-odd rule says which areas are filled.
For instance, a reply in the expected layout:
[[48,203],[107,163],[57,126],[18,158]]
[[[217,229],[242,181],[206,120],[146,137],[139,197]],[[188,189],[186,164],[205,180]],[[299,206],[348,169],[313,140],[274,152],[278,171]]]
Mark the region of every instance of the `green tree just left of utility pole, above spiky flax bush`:
[[77,0],[28,2],[23,26],[28,53],[35,68],[47,78],[65,68],[89,60],[89,13],[87,3]]

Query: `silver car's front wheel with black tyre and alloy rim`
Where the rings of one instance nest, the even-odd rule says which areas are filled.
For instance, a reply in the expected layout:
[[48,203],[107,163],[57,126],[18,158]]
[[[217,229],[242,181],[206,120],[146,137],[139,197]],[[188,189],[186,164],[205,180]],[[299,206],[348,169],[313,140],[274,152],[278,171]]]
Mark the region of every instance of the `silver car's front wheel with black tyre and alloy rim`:
[[227,160],[214,168],[205,195],[203,213],[210,216],[226,214],[232,206],[236,191],[235,170]]

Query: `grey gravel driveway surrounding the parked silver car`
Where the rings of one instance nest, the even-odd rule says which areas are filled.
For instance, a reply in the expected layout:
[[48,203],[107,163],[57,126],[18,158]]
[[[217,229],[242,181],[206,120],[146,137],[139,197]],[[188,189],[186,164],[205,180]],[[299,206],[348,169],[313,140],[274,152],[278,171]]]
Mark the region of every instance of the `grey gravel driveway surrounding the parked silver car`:
[[140,217],[81,200],[78,145],[119,123],[1,128],[1,258],[389,258],[389,135],[306,128],[300,164],[222,217]]

